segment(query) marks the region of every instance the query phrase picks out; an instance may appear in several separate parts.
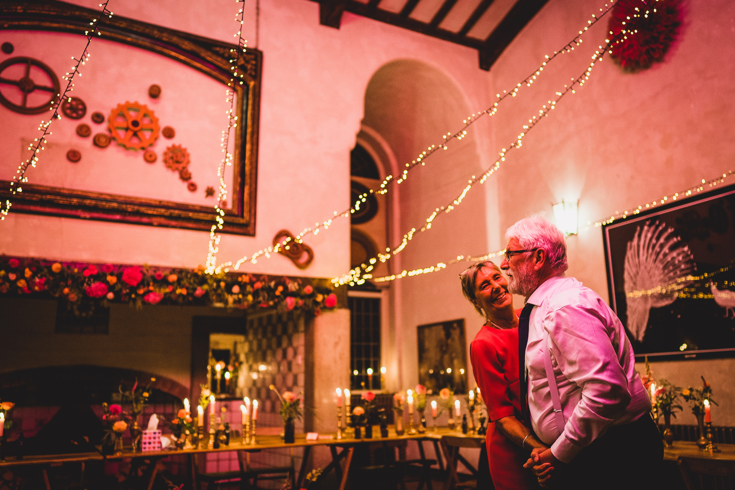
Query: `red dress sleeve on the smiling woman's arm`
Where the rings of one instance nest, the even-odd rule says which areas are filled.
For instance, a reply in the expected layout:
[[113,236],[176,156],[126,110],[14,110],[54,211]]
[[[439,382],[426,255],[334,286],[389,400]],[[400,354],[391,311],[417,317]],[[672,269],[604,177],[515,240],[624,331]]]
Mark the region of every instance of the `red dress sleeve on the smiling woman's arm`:
[[484,339],[474,340],[470,344],[470,360],[490,422],[514,415],[508,396],[508,380],[495,347]]

